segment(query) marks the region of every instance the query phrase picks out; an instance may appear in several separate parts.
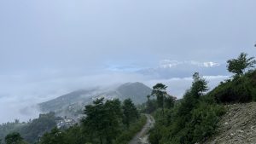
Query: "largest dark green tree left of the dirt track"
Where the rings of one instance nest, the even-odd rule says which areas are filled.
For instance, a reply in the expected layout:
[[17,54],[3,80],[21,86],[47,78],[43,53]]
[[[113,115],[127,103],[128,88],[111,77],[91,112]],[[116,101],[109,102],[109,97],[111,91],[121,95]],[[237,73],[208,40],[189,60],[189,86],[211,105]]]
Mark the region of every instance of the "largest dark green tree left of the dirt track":
[[88,130],[92,137],[99,139],[101,144],[104,141],[112,144],[113,139],[119,134],[122,119],[121,102],[108,100],[104,103],[103,101],[104,98],[97,99],[93,101],[93,105],[85,106],[84,129]]

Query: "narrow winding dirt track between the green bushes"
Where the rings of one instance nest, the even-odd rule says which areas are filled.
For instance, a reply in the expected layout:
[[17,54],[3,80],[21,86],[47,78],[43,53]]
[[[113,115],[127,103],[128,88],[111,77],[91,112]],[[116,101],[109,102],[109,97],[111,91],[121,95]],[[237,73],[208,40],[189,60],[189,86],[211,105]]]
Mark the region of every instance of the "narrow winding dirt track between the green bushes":
[[143,129],[135,135],[128,144],[149,144],[148,142],[148,130],[154,126],[154,118],[150,114],[145,114],[147,117],[147,123],[143,126]]

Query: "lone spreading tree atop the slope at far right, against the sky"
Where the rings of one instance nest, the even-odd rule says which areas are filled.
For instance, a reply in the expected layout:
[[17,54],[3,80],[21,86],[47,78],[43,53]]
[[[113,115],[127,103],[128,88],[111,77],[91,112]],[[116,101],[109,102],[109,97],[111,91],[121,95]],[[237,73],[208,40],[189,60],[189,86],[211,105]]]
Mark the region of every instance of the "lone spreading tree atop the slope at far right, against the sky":
[[228,71],[235,73],[236,76],[241,76],[246,69],[254,67],[256,60],[254,57],[247,58],[246,53],[241,53],[237,59],[228,60]]

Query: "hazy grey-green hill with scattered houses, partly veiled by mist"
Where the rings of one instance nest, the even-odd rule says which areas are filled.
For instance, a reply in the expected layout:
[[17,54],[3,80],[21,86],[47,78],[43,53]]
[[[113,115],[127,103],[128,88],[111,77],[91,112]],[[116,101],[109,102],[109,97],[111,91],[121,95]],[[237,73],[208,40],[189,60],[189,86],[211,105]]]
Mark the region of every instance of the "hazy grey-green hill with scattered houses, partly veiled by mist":
[[56,112],[59,116],[73,116],[81,113],[82,108],[97,97],[106,99],[119,98],[123,101],[131,98],[136,104],[147,101],[147,95],[151,93],[148,86],[142,83],[127,83],[113,89],[81,89],[67,95],[61,95],[54,100],[38,104],[43,112]]

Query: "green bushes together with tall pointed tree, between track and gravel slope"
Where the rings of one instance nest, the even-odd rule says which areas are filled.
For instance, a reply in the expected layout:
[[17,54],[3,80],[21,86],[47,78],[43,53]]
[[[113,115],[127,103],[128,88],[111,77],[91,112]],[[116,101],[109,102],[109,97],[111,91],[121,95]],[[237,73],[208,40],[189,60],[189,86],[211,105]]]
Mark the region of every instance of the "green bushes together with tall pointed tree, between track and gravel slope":
[[197,72],[193,78],[183,100],[166,109],[164,117],[160,111],[154,112],[156,124],[149,135],[152,144],[194,144],[214,134],[223,109],[205,95],[207,81]]

